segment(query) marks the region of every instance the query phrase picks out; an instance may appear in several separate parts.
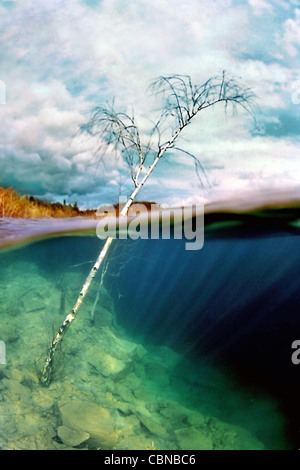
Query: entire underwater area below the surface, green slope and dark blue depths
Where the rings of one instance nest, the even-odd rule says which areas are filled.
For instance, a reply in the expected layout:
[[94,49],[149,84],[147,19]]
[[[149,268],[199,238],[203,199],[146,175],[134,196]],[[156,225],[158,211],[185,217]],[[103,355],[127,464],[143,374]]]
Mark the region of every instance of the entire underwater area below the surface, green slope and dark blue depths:
[[38,383],[49,341],[103,242],[59,237],[0,253],[1,448],[298,445],[298,236],[248,228],[207,232],[194,252],[183,240],[114,241],[49,388]]

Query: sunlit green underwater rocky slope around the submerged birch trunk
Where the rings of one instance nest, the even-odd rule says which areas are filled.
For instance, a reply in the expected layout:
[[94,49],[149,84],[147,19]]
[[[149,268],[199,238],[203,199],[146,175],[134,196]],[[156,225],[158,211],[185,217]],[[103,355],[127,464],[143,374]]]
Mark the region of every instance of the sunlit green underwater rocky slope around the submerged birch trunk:
[[272,397],[204,360],[129,337],[105,283],[91,321],[99,279],[57,353],[53,382],[41,387],[47,346],[85,277],[64,263],[47,271],[45,260],[22,258],[22,250],[1,260],[2,449],[289,447]]

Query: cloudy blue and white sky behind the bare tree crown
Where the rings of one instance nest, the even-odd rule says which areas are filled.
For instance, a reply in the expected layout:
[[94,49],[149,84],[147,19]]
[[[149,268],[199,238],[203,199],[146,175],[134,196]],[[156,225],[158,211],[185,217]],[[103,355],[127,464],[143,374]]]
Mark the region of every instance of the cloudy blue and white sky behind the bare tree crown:
[[157,118],[153,78],[201,84],[226,70],[256,94],[257,122],[221,106],[199,113],[180,145],[201,159],[206,190],[173,152],[138,199],[300,195],[298,0],[0,0],[0,44],[0,185],[82,208],[126,197],[125,164],[99,163],[96,137],[78,132],[91,107],[115,99],[143,133]]

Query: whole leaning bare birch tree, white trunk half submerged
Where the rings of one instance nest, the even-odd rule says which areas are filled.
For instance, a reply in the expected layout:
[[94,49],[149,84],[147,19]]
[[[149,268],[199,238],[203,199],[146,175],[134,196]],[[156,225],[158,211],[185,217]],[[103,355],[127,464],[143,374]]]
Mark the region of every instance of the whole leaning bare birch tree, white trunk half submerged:
[[[205,185],[205,171],[197,156],[179,147],[179,136],[200,111],[224,104],[225,110],[231,106],[244,108],[254,116],[254,95],[249,88],[239,85],[235,78],[225,72],[212,77],[203,85],[194,85],[188,75],[170,75],[157,78],[151,83],[151,91],[162,99],[159,119],[148,133],[141,132],[134,114],[117,112],[114,105],[95,107],[88,122],[81,130],[99,138],[98,152],[105,155],[108,149],[115,149],[127,163],[134,189],[120,212],[125,216],[136,195],[146,183],[152,171],[167,153],[181,151],[191,157],[202,185]],[[105,259],[113,242],[108,237],[92,267],[77,301],[61,324],[48,350],[41,376],[41,383],[48,386],[53,375],[54,353],[64,334],[75,319],[89,287]]]

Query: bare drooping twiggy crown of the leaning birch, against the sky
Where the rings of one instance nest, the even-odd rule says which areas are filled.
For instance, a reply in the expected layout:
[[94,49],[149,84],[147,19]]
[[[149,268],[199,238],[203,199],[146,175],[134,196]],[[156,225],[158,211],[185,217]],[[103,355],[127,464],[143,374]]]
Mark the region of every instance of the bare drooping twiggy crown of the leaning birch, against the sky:
[[[249,88],[239,85],[238,80],[229,77],[225,71],[221,76],[211,77],[202,85],[193,85],[189,75],[161,76],[151,83],[151,90],[162,98],[162,107],[160,117],[147,138],[145,132],[141,135],[133,112],[131,115],[117,112],[114,103],[111,106],[93,108],[90,119],[81,127],[81,130],[97,136],[100,142],[98,151],[104,154],[109,147],[121,155],[129,167],[135,188],[139,186],[139,178],[147,172],[155,159],[160,159],[165,152],[174,148],[181,132],[200,111],[223,103],[225,112],[230,105],[233,112],[241,107],[254,116],[254,94]],[[167,136],[164,142],[163,135]],[[147,162],[150,158],[147,167],[146,158]],[[195,159],[194,156],[193,158]],[[195,162],[199,177],[203,168],[198,159]],[[200,177],[199,179],[201,180]],[[203,181],[201,185],[203,186]]]

